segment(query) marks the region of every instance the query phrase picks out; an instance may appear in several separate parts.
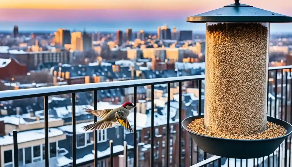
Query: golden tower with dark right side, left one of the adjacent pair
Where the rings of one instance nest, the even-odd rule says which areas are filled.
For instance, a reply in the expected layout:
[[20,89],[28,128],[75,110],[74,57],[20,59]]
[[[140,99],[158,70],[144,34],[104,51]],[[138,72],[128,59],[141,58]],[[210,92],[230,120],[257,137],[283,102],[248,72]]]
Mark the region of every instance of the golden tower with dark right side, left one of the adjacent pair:
[[70,43],[71,43],[70,30],[59,28],[58,31],[55,32],[55,44],[64,47],[65,44]]

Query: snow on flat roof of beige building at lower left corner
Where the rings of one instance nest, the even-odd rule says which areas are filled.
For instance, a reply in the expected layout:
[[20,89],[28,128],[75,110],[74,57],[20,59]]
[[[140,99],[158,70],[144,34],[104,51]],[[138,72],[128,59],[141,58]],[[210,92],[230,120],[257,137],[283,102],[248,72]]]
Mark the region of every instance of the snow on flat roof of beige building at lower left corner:
[[[50,128],[48,136],[50,138],[50,137],[60,136],[63,134],[64,133],[57,128]],[[45,138],[45,130],[44,129],[29,130],[29,131],[17,133],[18,143],[40,140],[40,139],[44,139],[44,138]],[[3,137],[0,137],[0,145],[9,145],[9,144],[13,144],[13,136],[12,135],[11,136],[5,135]]]

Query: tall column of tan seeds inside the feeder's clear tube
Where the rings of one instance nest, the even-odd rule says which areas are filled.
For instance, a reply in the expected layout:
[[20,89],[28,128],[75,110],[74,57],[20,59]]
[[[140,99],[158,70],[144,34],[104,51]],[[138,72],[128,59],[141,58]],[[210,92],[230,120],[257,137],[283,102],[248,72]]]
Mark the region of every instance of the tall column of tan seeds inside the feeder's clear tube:
[[268,29],[218,23],[206,32],[205,127],[222,135],[266,127]]

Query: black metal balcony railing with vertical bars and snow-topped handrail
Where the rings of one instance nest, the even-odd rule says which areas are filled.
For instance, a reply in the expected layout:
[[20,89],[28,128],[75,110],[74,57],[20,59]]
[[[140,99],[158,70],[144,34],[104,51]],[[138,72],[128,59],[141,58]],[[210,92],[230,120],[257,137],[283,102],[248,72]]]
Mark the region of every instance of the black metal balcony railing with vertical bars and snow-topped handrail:
[[[283,120],[286,120],[288,122],[291,123],[291,115],[292,115],[292,108],[291,108],[291,90],[292,90],[292,80],[291,80],[291,69],[292,66],[281,66],[281,67],[270,67],[269,68],[269,78],[270,81],[273,80],[272,82],[274,83],[273,85],[268,85],[272,87],[272,89],[269,89],[269,93],[274,93],[274,97],[270,97],[269,93],[267,94],[267,99],[268,99],[268,111],[267,111],[267,115],[268,116],[274,116]],[[280,74],[280,75],[279,75]],[[170,146],[170,136],[171,136],[171,132],[170,132],[170,89],[171,89],[171,84],[172,83],[179,83],[179,122],[178,122],[178,137],[176,138],[176,140],[178,140],[178,152],[177,153],[172,153],[172,157],[182,157],[182,141],[180,136],[182,135],[182,127],[181,127],[181,122],[182,122],[182,96],[183,96],[183,92],[182,92],[182,88],[183,88],[183,82],[187,82],[187,81],[197,81],[198,82],[198,88],[199,88],[199,100],[198,100],[198,113],[199,115],[201,114],[201,89],[202,89],[202,80],[204,80],[204,75],[194,75],[194,76],[187,76],[187,77],[173,77],[173,78],[159,78],[159,79],[147,79],[147,80],[127,80],[127,81],[116,81],[116,82],[102,82],[102,83],[89,83],[89,84],[78,84],[78,85],[63,85],[63,86],[55,86],[55,87],[41,87],[41,88],[33,88],[33,89],[20,89],[20,90],[8,90],[8,91],[1,91],[0,92],[0,101],[6,101],[6,100],[15,100],[15,99],[25,99],[25,98],[32,98],[32,97],[44,97],[44,124],[45,124],[45,165],[44,167],[49,167],[49,136],[48,136],[48,132],[49,132],[49,127],[48,127],[48,96],[52,96],[52,95],[59,95],[59,94],[72,94],[72,166],[75,167],[77,166],[76,164],[76,109],[75,109],[75,98],[76,98],[76,93],[77,92],[88,92],[88,91],[93,91],[93,104],[94,104],[94,109],[97,109],[97,91],[98,90],[105,90],[105,89],[117,89],[117,88],[126,88],[126,87],[133,87],[134,88],[134,101],[133,103],[136,105],[137,103],[137,87],[138,86],[146,86],[146,85],[151,85],[151,132],[150,132],[150,137],[151,139],[155,138],[155,131],[154,131],[154,85],[158,85],[158,84],[167,84],[167,125],[166,125],[166,147],[165,148],[169,148]],[[278,94],[278,80],[280,80],[280,95]],[[269,81],[268,81],[269,84]],[[290,87],[288,88],[287,85],[290,85]],[[285,91],[284,91],[284,87],[283,85],[285,85]],[[289,94],[288,94],[289,91]],[[285,94],[284,94],[285,93]],[[285,97],[285,98],[283,98]],[[289,97],[289,98],[288,98]],[[290,102],[288,101],[288,99],[290,100]],[[274,103],[274,104],[272,104]],[[288,103],[290,103],[289,105],[289,112],[287,111],[287,105]],[[274,106],[273,106],[274,105]],[[273,107],[272,107],[273,106]],[[284,106],[284,107],[283,107]],[[272,108],[274,108],[274,112],[272,112]],[[283,113],[283,111],[285,111],[285,114]],[[287,114],[289,113],[289,118],[287,117]],[[97,118],[94,118],[94,121],[97,121]],[[133,145],[134,145],[134,149],[133,149],[133,166],[134,167],[138,167],[139,162],[138,162],[138,141],[137,141],[137,111],[136,108],[134,110],[134,132],[133,132],[133,137],[134,137],[134,141],[133,141]],[[94,166],[98,166],[98,155],[97,155],[97,147],[98,147],[98,132],[94,131]],[[246,166],[246,167],[250,167],[250,166],[275,166],[275,167],[280,167],[283,166],[291,166],[291,149],[290,147],[288,147],[288,141],[290,144],[290,140],[291,140],[291,136],[288,137],[288,139],[286,139],[284,141],[284,144],[282,143],[281,146],[273,153],[272,158],[270,158],[270,156],[268,156],[267,158],[267,163],[265,162],[265,158],[263,157],[262,163],[259,164],[259,159],[253,159],[253,163],[251,163],[252,165],[250,165],[250,161],[252,160],[248,160],[248,159],[240,159],[240,163],[237,163],[237,160],[235,159],[235,164],[231,164],[231,161],[229,158],[225,158],[225,163],[223,163],[223,157],[219,157],[219,156],[212,156],[212,155],[208,155],[206,152],[204,153],[203,157],[204,160],[203,161],[199,161],[200,158],[200,154],[199,154],[199,148],[194,147],[195,143],[191,140],[190,141],[190,157],[186,157],[186,153],[184,152],[184,158],[178,158],[178,165],[180,166],[180,164],[182,164],[182,160],[185,159],[189,159],[190,161],[190,165],[192,167],[202,167],[202,166]],[[114,166],[114,162],[113,162],[113,142],[112,140],[110,140],[110,162],[109,162],[109,166],[113,167]],[[154,143],[154,140],[151,140],[151,149],[150,149],[150,167],[154,167],[154,146],[156,145],[156,143]],[[185,145],[185,143],[183,142],[183,145]],[[290,144],[291,145],[291,144]],[[185,145],[185,147],[189,147],[188,145]],[[126,149],[126,147],[125,147]],[[197,162],[196,164],[193,163],[193,152],[194,149],[197,151]],[[228,149],[228,148],[227,148]],[[289,149],[289,151],[288,151]],[[17,141],[17,131],[14,130],[13,131],[13,156],[14,156],[14,167],[18,167],[18,141]],[[170,164],[170,160],[169,157],[170,149],[166,149],[166,156],[165,156],[165,164],[164,166],[169,167],[171,166]],[[183,149],[184,150],[184,149]],[[124,154],[128,154],[128,151],[124,151]],[[276,156],[277,154],[277,156]],[[284,154],[284,155],[282,155]],[[280,156],[281,155],[281,156]],[[127,155],[125,157],[128,157]],[[207,158],[210,157],[210,158]],[[277,158],[277,159],[276,159]],[[239,161],[238,161],[239,162]],[[283,165],[280,165],[281,163],[284,163]],[[267,165],[265,165],[267,164]],[[107,166],[107,165],[105,165]],[[125,167],[128,166],[128,163],[125,163]],[[157,166],[157,165],[155,165]],[[173,167],[174,165],[172,165]]]

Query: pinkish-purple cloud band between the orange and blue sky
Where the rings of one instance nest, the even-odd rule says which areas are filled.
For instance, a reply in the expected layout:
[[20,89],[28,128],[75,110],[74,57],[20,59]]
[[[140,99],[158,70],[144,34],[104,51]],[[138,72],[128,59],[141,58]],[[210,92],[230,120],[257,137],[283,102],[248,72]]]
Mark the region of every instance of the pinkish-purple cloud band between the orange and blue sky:
[[191,16],[191,11],[143,10],[43,10],[1,9],[0,21],[114,21],[114,20],[172,20]]

